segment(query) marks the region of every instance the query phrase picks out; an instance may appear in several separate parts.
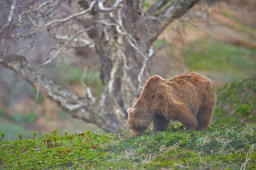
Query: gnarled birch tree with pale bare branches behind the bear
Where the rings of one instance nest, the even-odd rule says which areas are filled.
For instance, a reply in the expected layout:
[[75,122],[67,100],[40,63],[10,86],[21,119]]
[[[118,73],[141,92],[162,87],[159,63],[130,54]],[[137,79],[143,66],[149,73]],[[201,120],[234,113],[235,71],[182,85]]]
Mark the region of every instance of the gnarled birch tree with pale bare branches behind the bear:
[[[107,132],[127,127],[127,108],[150,76],[152,43],[198,0],[4,0],[0,2],[0,66],[13,70],[73,117]],[[147,9],[145,7],[147,4]],[[42,33],[54,47],[40,67],[29,53]],[[20,43],[24,42],[24,43]],[[17,45],[19,44],[19,45]],[[102,95],[78,97],[44,69],[64,49],[89,47],[99,56]]]

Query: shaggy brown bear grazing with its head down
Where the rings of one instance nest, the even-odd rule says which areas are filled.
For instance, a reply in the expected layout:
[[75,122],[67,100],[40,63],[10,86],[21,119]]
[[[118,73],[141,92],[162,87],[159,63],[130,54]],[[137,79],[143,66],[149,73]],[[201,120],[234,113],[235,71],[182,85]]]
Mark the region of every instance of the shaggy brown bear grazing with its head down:
[[136,103],[127,110],[130,137],[143,134],[153,121],[154,131],[164,131],[170,120],[189,130],[207,128],[216,104],[212,81],[201,74],[180,74],[169,80],[149,77]]

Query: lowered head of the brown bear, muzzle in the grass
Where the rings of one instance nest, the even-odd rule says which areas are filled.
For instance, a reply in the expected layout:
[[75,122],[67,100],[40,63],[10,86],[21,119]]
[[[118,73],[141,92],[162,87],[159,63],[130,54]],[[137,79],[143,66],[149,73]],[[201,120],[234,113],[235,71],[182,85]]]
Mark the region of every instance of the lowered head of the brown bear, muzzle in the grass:
[[143,120],[138,110],[136,108],[129,108],[127,112],[130,137],[145,133],[149,125]]

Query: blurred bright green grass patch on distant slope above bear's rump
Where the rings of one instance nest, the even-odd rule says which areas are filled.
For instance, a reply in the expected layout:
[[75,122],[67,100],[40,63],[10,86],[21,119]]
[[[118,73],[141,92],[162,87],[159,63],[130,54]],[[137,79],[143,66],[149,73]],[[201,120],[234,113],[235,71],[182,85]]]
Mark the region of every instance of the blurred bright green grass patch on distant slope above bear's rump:
[[[200,47],[200,48],[199,48]],[[218,40],[203,39],[190,44],[185,64],[190,71],[212,71],[237,81],[256,73],[256,50]]]

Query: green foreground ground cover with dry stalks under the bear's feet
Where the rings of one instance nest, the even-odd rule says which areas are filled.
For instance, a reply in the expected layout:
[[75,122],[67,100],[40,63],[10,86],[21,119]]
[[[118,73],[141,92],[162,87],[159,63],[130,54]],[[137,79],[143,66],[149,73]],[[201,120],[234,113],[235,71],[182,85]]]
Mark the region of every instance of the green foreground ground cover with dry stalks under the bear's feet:
[[[32,134],[31,134],[32,135]],[[0,141],[0,168],[245,169],[256,168],[256,124],[214,124],[197,132],[171,126],[129,139],[94,132]]]

